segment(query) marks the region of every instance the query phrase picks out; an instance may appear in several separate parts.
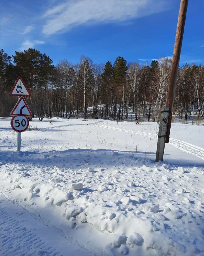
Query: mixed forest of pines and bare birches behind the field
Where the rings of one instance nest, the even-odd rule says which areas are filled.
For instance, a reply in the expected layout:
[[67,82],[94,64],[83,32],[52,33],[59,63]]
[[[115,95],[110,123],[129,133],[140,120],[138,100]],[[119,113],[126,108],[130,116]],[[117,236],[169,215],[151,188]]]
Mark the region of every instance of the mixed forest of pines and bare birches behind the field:
[[[114,63],[95,64],[81,56],[73,64],[67,60],[53,65],[52,59],[36,49],[15,51],[9,56],[0,50],[0,116],[8,117],[16,97],[9,92],[18,76],[31,92],[26,100],[33,116],[82,117],[124,120],[131,108],[136,123],[146,116],[159,121],[165,105],[171,59],[159,58],[141,65],[117,57]],[[204,119],[204,67],[179,67],[173,114],[179,119],[195,115]],[[90,110],[90,111],[89,111]]]

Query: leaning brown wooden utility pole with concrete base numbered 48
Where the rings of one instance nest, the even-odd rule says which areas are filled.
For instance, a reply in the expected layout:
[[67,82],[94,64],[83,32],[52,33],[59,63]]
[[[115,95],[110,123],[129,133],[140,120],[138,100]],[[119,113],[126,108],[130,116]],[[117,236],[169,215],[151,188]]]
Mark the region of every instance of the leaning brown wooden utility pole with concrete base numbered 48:
[[[168,120],[167,128],[166,128],[165,135],[161,135],[160,131],[162,131],[163,122],[160,122],[161,127],[160,127],[159,135],[158,135],[156,162],[158,162],[159,160],[163,161],[165,143],[169,143],[169,135],[170,135],[170,129],[171,129],[171,118],[172,118],[172,112],[173,112],[173,103],[174,103],[174,96],[175,96],[175,90],[176,90],[180,52],[181,52],[181,46],[182,46],[182,40],[183,40],[183,34],[184,34],[184,26],[185,26],[185,21],[186,21],[187,7],[188,7],[188,0],[181,0],[180,9],[179,9],[179,18],[178,18],[178,24],[177,24],[177,31],[176,31],[176,38],[175,38],[175,44],[174,44],[174,51],[173,51],[173,58],[172,58],[172,64],[171,64],[171,74],[170,74],[168,94],[167,94],[167,100],[166,100],[166,107],[169,108],[169,111],[168,111],[169,115],[167,117],[167,120]],[[163,115],[164,114],[165,114],[165,112],[163,112]],[[163,120],[163,118],[161,118],[161,120]],[[165,137],[165,143],[162,143],[162,144],[160,143],[161,136]]]

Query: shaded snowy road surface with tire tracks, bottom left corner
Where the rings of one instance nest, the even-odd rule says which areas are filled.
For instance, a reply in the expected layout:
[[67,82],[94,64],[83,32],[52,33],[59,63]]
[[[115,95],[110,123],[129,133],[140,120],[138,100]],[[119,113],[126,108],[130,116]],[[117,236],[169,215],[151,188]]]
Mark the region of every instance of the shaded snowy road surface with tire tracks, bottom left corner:
[[[6,195],[5,191],[5,187],[0,184],[0,256],[109,255],[102,254],[100,251],[93,251],[92,248],[87,246],[84,247],[80,240],[76,240],[65,230],[43,218],[38,212],[32,212],[27,207],[24,208],[16,200],[12,202],[13,197]],[[13,206],[12,208],[11,205]],[[24,217],[18,219],[18,216],[21,215]],[[36,234],[35,230],[41,230],[41,232]],[[33,238],[35,238],[34,242]],[[52,243],[50,238],[61,241],[63,248],[61,248],[61,245],[55,248],[56,244]],[[13,240],[14,243],[7,243],[7,241]],[[34,246],[36,243],[37,247]],[[2,253],[5,251],[6,253]],[[68,254],[67,251],[69,251]]]

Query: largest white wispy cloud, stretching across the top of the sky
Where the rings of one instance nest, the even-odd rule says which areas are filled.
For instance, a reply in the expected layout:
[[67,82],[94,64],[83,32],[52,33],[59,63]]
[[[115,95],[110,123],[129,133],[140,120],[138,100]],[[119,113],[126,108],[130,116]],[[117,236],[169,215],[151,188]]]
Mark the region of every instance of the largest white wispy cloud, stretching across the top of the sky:
[[165,0],[66,0],[44,13],[42,32],[51,35],[81,24],[121,22],[167,8]]

